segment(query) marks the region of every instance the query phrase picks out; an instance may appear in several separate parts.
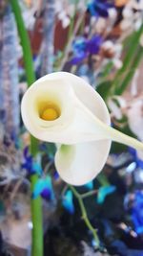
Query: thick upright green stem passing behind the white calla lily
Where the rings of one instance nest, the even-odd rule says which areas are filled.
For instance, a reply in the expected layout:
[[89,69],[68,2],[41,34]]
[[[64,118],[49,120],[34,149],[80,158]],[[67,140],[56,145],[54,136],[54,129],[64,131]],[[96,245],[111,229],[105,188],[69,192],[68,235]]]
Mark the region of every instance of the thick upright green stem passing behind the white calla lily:
[[[10,0],[10,5],[12,12],[15,16],[17,30],[19,33],[22,49],[23,49],[23,59],[25,64],[26,76],[28,85],[35,81],[35,74],[32,63],[31,55],[31,43],[28,32],[25,28],[19,3],[17,0]],[[38,151],[38,144],[35,138],[31,137],[31,154],[36,155]],[[31,192],[33,187],[38,180],[38,175],[31,175]],[[38,197],[36,199],[31,199],[31,220],[32,220],[32,246],[31,255],[32,256],[43,256],[43,220],[42,220],[42,201]]]

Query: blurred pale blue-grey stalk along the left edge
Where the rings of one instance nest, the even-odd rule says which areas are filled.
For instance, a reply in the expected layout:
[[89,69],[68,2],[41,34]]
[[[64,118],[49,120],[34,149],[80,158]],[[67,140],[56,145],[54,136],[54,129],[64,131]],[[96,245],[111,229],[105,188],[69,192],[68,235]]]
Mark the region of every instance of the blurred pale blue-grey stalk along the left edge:
[[16,24],[10,6],[0,19],[0,117],[5,135],[14,139],[19,132],[19,87]]

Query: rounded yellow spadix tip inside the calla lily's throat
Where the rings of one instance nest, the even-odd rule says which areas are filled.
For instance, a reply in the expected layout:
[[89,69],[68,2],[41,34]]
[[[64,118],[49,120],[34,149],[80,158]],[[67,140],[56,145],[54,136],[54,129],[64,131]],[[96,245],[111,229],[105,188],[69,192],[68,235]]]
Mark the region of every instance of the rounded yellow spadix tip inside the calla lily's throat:
[[59,117],[59,113],[56,108],[48,107],[41,114],[41,118],[45,121],[53,121]]

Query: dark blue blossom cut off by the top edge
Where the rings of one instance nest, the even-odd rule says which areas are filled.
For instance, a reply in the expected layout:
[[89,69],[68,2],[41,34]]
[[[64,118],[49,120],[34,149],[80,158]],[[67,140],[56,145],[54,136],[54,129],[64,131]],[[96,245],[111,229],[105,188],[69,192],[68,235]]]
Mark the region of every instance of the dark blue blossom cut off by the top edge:
[[112,7],[114,7],[114,5],[108,0],[93,0],[88,4],[88,11],[92,16],[107,18],[109,16],[108,9]]

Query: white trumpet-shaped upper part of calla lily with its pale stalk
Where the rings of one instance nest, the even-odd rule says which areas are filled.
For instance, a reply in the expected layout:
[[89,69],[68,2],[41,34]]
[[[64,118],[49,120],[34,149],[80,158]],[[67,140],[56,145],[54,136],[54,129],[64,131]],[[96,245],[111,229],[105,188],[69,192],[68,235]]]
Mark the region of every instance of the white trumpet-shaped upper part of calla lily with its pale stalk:
[[[40,118],[48,102],[59,107],[60,116],[54,121]],[[71,145],[112,139],[143,150],[143,144],[109,126],[110,114],[102,98],[70,73],[52,73],[33,83],[22,101],[22,117],[31,134],[44,141]]]

